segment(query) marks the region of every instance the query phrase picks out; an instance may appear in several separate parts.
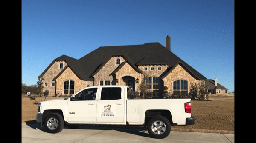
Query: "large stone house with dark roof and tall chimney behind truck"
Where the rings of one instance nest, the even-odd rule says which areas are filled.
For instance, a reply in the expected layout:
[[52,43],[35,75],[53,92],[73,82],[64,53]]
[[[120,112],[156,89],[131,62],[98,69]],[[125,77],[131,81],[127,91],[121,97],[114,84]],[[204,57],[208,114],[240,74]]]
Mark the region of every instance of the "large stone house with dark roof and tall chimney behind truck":
[[[166,48],[167,47],[167,48]],[[44,91],[50,95],[74,94],[87,86],[128,85],[139,91],[143,73],[148,73],[150,90],[175,94],[187,92],[190,83],[206,78],[170,51],[170,37],[166,47],[160,43],[143,45],[105,46],[74,59],[62,55],[41,74]],[[77,51],[83,52],[83,51]]]

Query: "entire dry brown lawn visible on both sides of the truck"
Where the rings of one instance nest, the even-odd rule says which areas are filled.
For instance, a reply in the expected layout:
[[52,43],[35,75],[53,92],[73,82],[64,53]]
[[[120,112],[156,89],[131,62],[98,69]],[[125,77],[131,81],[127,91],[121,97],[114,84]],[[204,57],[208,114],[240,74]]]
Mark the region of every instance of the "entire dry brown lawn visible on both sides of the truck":
[[[63,97],[47,97],[58,99]],[[36,98],[39,101],[39,97]],[[41,100],[44,98],[41,97]],[[206,132],[206,133],[235,133],[234,97],[210,97],[205,101],[191,101],[192,116],[195,124],[189,126],[172,126],[172,131]],[[36,123],[38,104],[29,98],[21,98],[21,123]]]

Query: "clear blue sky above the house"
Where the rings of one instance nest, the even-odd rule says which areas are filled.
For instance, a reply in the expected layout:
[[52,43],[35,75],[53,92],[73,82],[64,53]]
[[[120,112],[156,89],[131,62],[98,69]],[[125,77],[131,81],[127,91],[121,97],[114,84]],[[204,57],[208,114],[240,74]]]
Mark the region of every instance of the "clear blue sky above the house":
[[207,79],[234,90],[234,0],[22,0],[22,83],[57,57],[100,46],[159,42]]

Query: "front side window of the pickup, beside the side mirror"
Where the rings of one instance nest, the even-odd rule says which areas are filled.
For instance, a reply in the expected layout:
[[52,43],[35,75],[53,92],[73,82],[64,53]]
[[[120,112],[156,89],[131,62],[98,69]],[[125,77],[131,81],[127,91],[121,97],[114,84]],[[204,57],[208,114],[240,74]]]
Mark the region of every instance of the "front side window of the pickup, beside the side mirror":
[[85,89],[79,94],[76,94],[76,101],[85,101],[85,100],[95,100],[96,93],[98,88]]

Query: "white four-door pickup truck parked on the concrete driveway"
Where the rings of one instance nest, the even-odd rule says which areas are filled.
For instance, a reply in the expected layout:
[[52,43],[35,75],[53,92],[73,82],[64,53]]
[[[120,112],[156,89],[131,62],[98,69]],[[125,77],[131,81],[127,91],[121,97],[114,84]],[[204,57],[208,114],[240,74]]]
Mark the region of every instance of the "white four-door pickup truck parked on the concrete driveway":
[[128,86],[90,86],[68,99],[38,104],[37,123],[49,133],[67,125],[144,126],[154,138],[165,138],[172,126],[195,124],[190,99],[134,99]]

